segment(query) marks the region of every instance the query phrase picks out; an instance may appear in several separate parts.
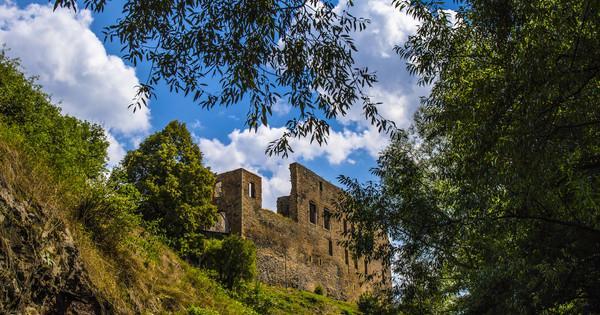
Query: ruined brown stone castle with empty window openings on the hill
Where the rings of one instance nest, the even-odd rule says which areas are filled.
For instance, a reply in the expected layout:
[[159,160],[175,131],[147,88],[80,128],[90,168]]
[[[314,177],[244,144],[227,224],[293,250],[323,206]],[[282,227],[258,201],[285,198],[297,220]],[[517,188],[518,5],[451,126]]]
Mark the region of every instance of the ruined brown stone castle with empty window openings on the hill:
[[[221,193],[215,202],[231,232],[256,244],[259,279],[309,291],[321,285],[328,295],[345,300],[355,300],[382,283],[389,287],[391,273],[379,261],[368,263],[373,280],[363,281],[364,259],[356,259],[355,265],[352,254],[338,244],[343,222],[331,217],[325,228],[324,214],[333,213],[341,190],[298,163],[290,165],[290,175],[292,189],[289,196],[277,199],[278,213],[262,209],[260,176],[244,169],[217,176]],[[316,224],[310,222],[311,203],[316,206]]]

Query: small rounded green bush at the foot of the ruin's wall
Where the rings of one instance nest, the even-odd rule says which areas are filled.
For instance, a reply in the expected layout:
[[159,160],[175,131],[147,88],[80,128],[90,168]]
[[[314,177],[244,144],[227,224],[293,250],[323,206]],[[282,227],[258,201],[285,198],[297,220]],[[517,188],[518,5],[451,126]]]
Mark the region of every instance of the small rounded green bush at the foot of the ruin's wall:
[[237,235],[223,241],[207,240],[201,257],[204,268],[217,273],[217,280],[228,289],[238,288],[256,275],[256,247]]

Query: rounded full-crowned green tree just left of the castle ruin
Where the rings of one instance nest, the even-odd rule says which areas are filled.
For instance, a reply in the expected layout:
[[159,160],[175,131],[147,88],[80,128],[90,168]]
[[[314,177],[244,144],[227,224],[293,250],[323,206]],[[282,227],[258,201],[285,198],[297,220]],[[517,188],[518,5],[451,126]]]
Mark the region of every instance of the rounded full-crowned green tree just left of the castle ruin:
[[142,195],[138,211],[144,220],[158,222],[177,249],[197,239],[216,218],[215,178],[202,165],[202,153],[185,124],[172,121],[150,135],[127,153],[114,174],[136,187]]

